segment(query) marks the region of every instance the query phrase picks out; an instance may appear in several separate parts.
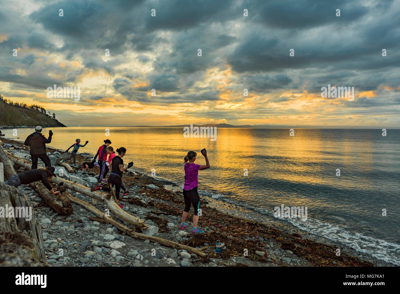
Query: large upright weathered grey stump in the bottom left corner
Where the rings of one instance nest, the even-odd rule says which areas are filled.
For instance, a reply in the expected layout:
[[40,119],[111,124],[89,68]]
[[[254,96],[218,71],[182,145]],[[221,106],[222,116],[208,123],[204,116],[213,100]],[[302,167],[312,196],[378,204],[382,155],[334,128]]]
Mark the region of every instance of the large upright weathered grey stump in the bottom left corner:
[[[15,187],[0,183],[0,207],[4,210],[14,207],[14,217],[10,209],[0,208],[0,266],[49,266],[42,229],[25,195]],[[22,209],[28,213],[23,215]]]

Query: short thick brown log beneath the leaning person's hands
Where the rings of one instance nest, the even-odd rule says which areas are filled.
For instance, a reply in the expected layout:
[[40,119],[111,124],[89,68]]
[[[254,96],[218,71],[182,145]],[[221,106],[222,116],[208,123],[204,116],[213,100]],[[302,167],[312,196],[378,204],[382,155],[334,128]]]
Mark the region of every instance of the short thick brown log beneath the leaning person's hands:
[[30,187],[42,197],[48,206],[60,215],[72,215],[74,212],[71,202],[66,197],[50,193],[42,183],[34,182],[30,184]]

